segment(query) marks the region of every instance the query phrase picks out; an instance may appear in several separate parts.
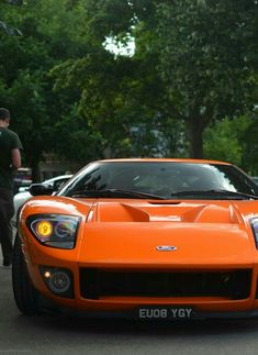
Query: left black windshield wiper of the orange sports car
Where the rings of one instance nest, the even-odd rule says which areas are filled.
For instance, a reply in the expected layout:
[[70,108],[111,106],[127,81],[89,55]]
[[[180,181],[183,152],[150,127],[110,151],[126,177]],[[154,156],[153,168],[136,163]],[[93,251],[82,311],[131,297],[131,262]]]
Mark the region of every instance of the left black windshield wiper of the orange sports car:
[[[70,196],[70,195],[69,195]],[[159,195],[123,190],[123,189],[106,189],[106,190],[85,190],[75,191],[70,197],[96,197],[96,198],[133,198],[133,199],[154,199],[166,200],[167,198]]]

